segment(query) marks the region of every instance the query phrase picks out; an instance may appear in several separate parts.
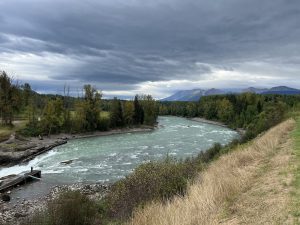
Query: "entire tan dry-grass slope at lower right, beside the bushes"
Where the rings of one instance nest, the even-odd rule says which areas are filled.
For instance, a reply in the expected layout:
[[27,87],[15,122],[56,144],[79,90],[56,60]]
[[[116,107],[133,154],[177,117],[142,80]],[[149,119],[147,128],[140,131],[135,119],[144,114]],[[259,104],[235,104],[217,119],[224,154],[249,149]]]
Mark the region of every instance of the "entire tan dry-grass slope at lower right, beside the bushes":
[[[137,211],[129,224],[287,222],[288,187],[292,179],[286,176],[285,168],[292,149],[288,135],[294,125],[294,120],[288,120],[222,156],[190,186],[184,198],[175,198],[166,205],[152,203]],[[299,184],[297,179],[294,183]]]

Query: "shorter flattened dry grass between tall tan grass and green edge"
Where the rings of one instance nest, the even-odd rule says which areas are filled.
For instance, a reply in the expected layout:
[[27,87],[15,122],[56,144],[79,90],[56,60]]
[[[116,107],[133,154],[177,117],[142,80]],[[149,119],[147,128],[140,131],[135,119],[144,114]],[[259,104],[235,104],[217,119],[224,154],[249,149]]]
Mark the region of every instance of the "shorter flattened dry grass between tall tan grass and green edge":
[[292,224],[289,215],[292,149],[292,140],[287,138],[278,152],[265,160],[251,186],[224,207],[218,219],[220,224]]

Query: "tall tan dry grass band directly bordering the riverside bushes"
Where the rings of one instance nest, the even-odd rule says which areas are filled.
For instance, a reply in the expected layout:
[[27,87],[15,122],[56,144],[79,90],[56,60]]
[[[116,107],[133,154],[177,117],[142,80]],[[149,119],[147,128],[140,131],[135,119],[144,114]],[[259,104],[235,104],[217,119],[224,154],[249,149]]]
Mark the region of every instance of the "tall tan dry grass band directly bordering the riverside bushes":
[[[287,120],[270,129],[251,144],[222,156],[189,187],[185,197],[162,204],[152,203],[135,212],[131,225],[196,225],[217,224],[226,204],[247,191],[253,180],[278,152],[294,128]],[[257,212],[259,213],[259,212]],[[231,220],[233,222],[233,220]]]

